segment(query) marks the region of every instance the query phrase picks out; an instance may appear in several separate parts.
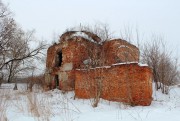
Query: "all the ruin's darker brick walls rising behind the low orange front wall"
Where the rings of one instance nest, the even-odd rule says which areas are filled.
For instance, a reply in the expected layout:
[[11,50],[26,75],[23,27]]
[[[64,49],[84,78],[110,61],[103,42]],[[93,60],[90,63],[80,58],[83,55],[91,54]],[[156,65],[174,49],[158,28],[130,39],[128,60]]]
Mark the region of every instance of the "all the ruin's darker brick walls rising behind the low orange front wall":
[[[60,38],[60,43],[52,45],[47,51],[45,82],[48,85],[51,85],[51,83],[54,85],[54,77],[58,75],[60,89],[73,90],[75,70],[77,68],[86,68],[87,65],[83,61],[87,59],[91,59],[89,67],[139,60],[139,49],[124,40],[115,39],[97,44],[81,36],[71,37],[73,33],[67,32],[63,34]],[[95,37],[94,35],[92,36]],[[121,45],[126,47],[120,48]],[[60,51],[62,52],[62,63],[60,67],[56,67],[57,53]],[[72,68],[65,69],[67,65],[70,65]],[[62,79],[60,77],[62,73],[65,73],[66,78]]]

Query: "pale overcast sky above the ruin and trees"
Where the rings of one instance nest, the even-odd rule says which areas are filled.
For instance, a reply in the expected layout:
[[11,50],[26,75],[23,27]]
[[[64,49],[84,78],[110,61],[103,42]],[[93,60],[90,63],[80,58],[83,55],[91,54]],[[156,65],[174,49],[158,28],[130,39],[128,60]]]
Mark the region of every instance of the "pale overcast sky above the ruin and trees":
[[[150,35],[163,35],[178,53],[180,0],[3,0],[23,29],[35,29],[38,38],[52,41],[66,28],[102,22],[118,35],[124,26],[138,26]],[[180,54],[178,54],[180,55]]]

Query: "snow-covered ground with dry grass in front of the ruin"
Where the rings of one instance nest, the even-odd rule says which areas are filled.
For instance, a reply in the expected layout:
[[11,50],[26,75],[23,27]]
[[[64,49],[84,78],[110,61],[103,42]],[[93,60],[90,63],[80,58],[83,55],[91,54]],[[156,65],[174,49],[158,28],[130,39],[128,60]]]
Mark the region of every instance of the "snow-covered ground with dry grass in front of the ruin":
[[31,93],[19,84],[2,84],[0,88],[0,121],[180,121],[180,87],[171,87],[170,94],[153,92],[150,106],[131,107],[118,102],[100,100],[93,108],[93,99],[75,99],[74,92],[53,90],[42,92],[34,87]]

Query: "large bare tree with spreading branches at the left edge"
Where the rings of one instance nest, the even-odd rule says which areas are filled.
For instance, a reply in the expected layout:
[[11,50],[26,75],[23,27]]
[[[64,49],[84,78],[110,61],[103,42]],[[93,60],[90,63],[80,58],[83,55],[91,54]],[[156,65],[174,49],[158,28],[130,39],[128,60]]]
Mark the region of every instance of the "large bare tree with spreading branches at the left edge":
[[[38,44],[31,46],[33,42]],[[0,78],[11,82],[18,73],[29,70],[32,63],[28,62],[40,59],[44,49],[46,44],[35,39],[34,30],[23,31],[0,1]]]

